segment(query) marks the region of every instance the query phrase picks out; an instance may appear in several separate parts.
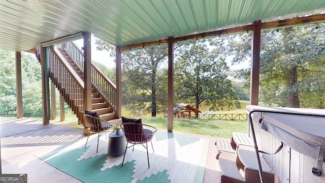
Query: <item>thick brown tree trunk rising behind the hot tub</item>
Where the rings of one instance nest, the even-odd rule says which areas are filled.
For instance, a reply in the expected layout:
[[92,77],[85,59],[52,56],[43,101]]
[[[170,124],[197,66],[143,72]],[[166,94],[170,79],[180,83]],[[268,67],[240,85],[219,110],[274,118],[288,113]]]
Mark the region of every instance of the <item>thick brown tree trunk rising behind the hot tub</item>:
[[297,78],[297,67],[286,69],[286,88],[289,89],[289,92],[286,94],[286,107],[300,107],[298,92],[295,88],[295,85],[297,84]]

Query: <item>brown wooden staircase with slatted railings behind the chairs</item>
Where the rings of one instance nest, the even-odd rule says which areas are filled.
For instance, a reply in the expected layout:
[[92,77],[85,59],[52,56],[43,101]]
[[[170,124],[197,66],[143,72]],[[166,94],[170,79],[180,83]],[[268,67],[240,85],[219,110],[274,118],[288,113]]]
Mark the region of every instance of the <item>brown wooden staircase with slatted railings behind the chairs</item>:
[[[36,57],[40,60],[40,49]],[[83,123],[84,115],[84,71],[83,53],[73,42],[49,48],[49,77],[58,88],[64,100]],[[92,65],[92,111],[112,123],[120,123],[116,118],[116,86],[98,68]]]

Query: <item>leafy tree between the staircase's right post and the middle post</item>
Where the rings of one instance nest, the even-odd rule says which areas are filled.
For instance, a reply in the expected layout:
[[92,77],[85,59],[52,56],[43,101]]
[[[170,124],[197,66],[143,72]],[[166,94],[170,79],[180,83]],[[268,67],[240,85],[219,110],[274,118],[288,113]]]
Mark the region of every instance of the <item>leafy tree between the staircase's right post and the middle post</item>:
[[[96,40],[97,49],[106,49],[115,55],[115,47],[105,41]],[[175,46],[180,50],[181,45]],[[134,113],[149,113],[155,117],[157,112],[167,108],[167,46],[144,48],[123,52],[122,62],[122,100],[127,110]],[[164,83],[164,84],[163,84]]]

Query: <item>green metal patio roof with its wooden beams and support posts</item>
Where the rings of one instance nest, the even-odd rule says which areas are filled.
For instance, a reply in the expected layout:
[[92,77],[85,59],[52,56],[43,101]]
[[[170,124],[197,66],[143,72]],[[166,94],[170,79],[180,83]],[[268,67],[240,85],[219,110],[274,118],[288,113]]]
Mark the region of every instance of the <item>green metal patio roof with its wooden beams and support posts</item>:
[[[47,48],[83,38],[83,108],[91,109],[91,35],[116,46],[116,118],[121,117],[121,52],[168,45],[168,131],[173,130],[174,43],[252,32],[250,104],[258,105],[261,30],[325,21],[321,0],[284,1],[5,1],[0,4],[0,48],[37,53],[42,63],[43,123],[51,115]],[[38,49],[36,49],[38,48]],[[13,63],[14,65],[14,63]],[[17,72],[17,117],[23,117]],[[80,123],[83,123],[82,117]],[[85,133],[86,134],[86,133]]]

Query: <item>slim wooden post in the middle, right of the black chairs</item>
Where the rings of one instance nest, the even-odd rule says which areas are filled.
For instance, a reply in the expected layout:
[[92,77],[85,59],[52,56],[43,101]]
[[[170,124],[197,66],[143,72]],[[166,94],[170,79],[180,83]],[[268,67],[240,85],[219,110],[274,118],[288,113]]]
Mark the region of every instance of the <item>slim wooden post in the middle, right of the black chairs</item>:
[[168,40],[168,116],[167,130],[173,132],[174,114],[174,41]]

